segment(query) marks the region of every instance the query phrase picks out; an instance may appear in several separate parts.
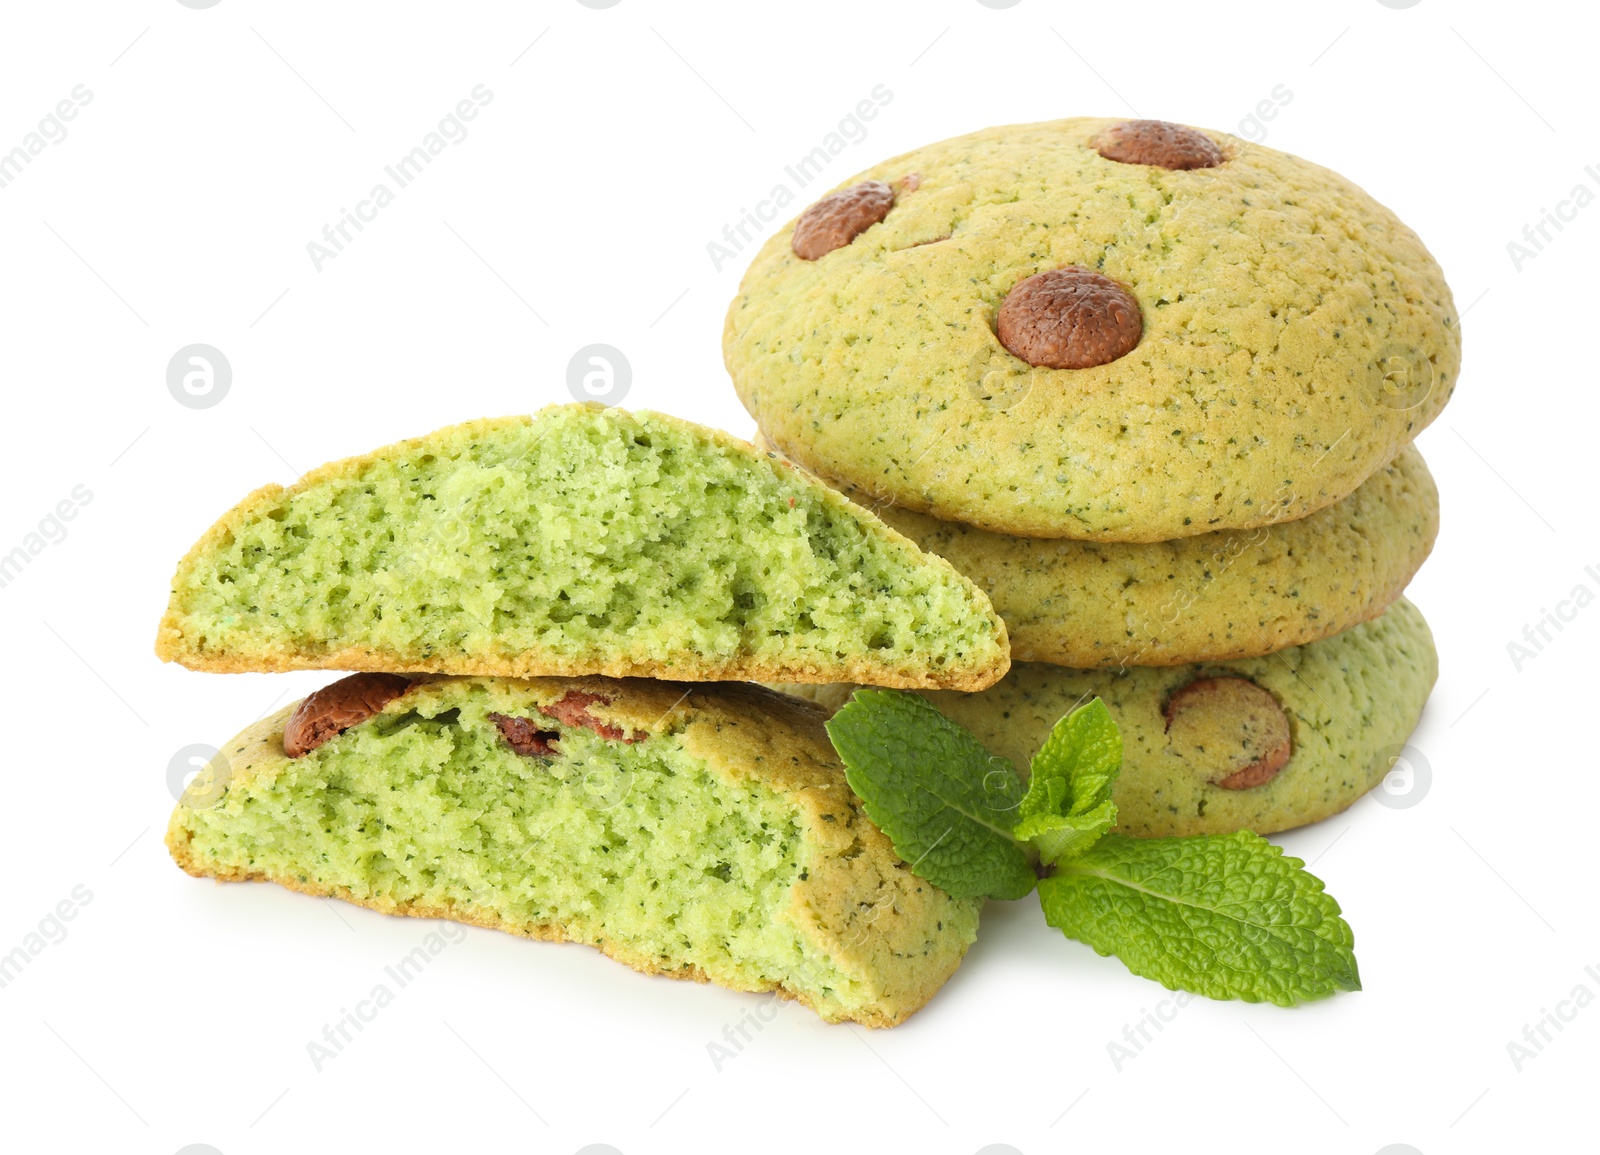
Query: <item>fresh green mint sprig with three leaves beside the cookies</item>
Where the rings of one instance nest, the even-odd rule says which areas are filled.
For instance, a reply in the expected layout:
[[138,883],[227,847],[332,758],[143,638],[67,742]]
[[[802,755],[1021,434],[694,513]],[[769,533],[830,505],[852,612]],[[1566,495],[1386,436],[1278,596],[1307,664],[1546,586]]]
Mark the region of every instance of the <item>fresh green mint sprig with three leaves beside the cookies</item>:
[[1054,725],[1026,790],[915,694],[858,691],[827,729],[867,816],[955,897],[1037,883],[1051,926],[1170,990],[1294,1006],[1362,989],[1339,904],[1266,838],[1110,833],[1122,734],[1098,697]]

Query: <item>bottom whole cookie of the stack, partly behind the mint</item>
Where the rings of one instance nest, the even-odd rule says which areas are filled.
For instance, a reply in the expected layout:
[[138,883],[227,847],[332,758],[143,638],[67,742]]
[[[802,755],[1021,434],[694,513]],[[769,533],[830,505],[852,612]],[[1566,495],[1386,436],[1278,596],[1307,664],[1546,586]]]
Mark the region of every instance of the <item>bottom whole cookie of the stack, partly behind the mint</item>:
[[[923,691],[1022,771],[1051,726],[1104,699],[1122,729],[1117,829],[1136,837],[1290,830],[1378,785],[1438,677],[1422,614],[1400,598],[1331,638],[1237,662],[1069,670],[1013,662],[976,694]],[[854,686],[784,686],[838,709]]]

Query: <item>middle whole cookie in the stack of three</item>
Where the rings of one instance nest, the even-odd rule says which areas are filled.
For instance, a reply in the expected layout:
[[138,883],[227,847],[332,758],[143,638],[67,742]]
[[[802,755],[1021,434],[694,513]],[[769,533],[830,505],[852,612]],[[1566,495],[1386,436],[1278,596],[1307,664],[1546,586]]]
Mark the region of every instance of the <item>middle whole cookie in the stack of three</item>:
[[1181,665],[1256,657],[1381,614],[1438,536],[1416,446],[1298,522],[1162,542],[1014,538],[886,506],[890,526],[989,595],[1011,659]]

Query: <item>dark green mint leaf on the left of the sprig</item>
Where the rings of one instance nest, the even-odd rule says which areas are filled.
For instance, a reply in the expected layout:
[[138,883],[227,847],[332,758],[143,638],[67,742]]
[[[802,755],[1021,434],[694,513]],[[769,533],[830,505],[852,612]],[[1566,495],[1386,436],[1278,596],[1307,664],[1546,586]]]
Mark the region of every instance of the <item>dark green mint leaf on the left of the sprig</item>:
[[1034,869],[1011,837],[1022,777],[926,699],[858,689],[827,723],[850,789],[910,869],[958,899],[1019,899]]

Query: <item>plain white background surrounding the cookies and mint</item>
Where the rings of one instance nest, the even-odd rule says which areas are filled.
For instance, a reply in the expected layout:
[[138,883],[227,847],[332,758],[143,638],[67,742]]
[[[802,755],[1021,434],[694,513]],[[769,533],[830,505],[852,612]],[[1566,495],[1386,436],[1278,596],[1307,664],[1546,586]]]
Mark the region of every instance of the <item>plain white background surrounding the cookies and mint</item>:
[[[1520,670],[1507,653],[1574,585],[1600,593],[1600,208],[1520,270],[1507,253],[1573,186],[1600,192],[1581,11],[8,5],[0,150],[75,85],[93,99],[0,189],[0,554],[74,486],[93,498],[0,589],[0,952],[75,886],[93,897],[0,989],[0,1145],[1587,1145],[1552,1136],[1587,1131],[1600,1003],[1520,1072],[1507,1053],[1573,987],[1600,997],[1584,973],[1600,973],[1600,608]],[[475,85],[493,102],[467,139],[318,272],[307,242]],[[763,1000],[472,929],[317,1073],[307,1041],[430,925],[214,886],[168,861],[173,753],[326,680],[160,665],[173,563],[261,483],[566,400],[566,362],[589,342],[626,352],[629,405],[749,434],[720,355],[744,258],[717,270],[707,242],[875,85],[893,101],[829,184],[934,139],[1061,115],[1259,139],[1242,120],[1283,85],[1293,99],[1266,142],[1349,174],[1443,264],[1466,368],[1421,442],[1445,528],[1411,589],[1443,662],[1414,739],[1432,784],[1414,806],[1368,798],[1282,838],[1344,904],[1366,990],[1296,1011],[1194,1003],[1118,1070],[1107,1045],[1166,992],[1066,942],[1027,899],[989,907],[960,973],[906,1025],[829,1027],[790,1008],[718,1072],[707,1043]],[[166,390],[190,342],[232,363],[214,408]]]

